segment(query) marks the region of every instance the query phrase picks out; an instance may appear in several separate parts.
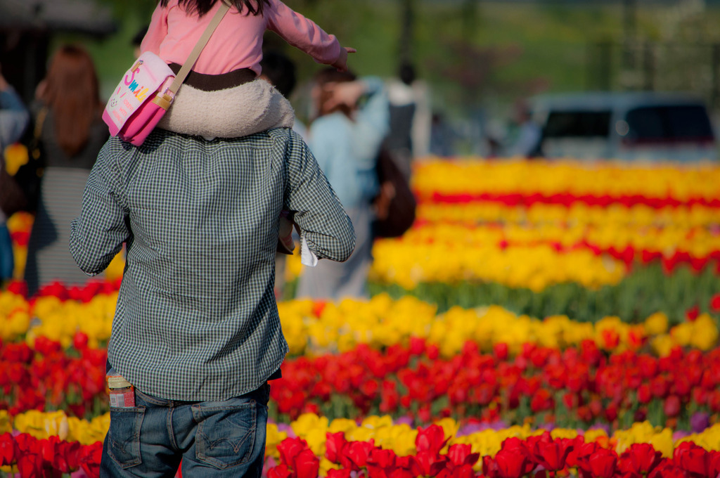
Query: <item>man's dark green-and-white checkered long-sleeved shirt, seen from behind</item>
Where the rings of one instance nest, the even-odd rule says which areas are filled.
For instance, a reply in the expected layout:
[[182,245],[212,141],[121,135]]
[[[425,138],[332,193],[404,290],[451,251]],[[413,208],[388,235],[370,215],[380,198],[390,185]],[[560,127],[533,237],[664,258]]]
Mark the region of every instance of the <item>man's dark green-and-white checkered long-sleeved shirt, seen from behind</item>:
[[99,274],[127,243],[109,361],[140,391],[226,400],[288,351],[273,292],[279,215],[296,211],[318,258],[345,261],[350,219],[297,133],[205,141],[111,137],[88,179],[70,250]]

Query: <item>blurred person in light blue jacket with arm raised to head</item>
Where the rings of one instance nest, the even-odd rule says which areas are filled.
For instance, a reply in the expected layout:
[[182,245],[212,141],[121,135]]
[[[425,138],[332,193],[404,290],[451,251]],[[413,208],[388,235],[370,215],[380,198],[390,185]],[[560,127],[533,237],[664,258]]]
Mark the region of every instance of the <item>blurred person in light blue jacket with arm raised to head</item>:
[[390,108],[380,78],[356,78],[328,68],[312,91],[318,117],[308,145],[353,222],[355,251],[343,263],[318,263],[302,271],[297,297],[366,297],[372,263],[373,199],[379,192],[375,166],[387,132]]

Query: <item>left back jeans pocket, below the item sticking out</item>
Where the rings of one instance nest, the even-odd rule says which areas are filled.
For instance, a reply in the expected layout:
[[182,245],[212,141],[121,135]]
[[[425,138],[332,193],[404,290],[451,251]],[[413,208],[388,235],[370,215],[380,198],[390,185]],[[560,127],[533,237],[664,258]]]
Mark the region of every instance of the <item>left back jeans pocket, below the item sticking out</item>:
[[145,407],[110,408],[108,430],[109,456],[121,468],[130,468],[143,462],[140,457],[140,428],[145,418]]

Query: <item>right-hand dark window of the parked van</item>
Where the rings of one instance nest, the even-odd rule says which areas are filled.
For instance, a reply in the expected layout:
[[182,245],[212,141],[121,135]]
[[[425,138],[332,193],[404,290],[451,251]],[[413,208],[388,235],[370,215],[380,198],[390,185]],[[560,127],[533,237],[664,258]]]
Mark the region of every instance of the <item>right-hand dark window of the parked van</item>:
[[631,109],[627,114],[630,142],[711,141],[713,128],[700,105]]

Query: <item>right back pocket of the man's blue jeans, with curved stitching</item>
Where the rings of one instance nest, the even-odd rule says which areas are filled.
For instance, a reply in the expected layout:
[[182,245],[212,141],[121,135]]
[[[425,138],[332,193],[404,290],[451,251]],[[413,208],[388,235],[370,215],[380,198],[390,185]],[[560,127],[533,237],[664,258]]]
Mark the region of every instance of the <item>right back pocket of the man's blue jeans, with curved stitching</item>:
[[193,405],[192,415],[198,423],[197,459],[218,469],[247,463],[255,446],[257,407],[254,400],[233,405]]

